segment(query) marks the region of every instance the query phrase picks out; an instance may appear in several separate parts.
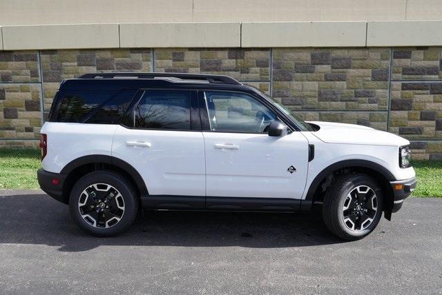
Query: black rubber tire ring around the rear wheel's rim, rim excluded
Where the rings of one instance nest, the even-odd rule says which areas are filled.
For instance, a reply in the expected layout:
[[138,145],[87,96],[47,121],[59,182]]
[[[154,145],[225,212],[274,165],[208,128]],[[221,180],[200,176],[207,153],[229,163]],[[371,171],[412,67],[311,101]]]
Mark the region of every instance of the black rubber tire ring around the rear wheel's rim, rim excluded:
[[[86,187],[93,185],[94,183],[105,183],[115,187],[124,200],[124,214],[121,220],[108,228],[97,228],[93,227],[87,223],[79,212],[78,201],[81,193],[86,189]],[[73,189],[70,192],[69,198],[69,209],[70,216],[73,218],[75,223],[79,225],[81,230],[93,234],[95,236],[113,236],[124,232],[135,219],[137,214],[137,200],[134,195],[134,190],[132,185],[128,183],[122,176],[115,174],[113,172],[92,172],[86,174],[86,176],[81,177],[77,183],[75,183]]]

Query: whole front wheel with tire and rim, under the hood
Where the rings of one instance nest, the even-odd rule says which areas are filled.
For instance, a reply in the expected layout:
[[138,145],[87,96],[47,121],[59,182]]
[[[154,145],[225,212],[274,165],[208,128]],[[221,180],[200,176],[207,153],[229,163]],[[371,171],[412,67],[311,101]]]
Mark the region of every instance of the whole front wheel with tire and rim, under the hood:
[[371,233],[381,220],[382,212],[381,187],[365,174],[340,176],[325,192],[325,225],[345,240],[358,240]]

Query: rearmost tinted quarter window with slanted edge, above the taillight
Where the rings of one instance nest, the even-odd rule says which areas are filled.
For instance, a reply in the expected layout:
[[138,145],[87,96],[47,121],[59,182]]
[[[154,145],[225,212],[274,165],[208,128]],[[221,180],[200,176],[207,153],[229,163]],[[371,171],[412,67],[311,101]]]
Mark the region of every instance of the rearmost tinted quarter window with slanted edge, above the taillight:
[[102,105],[115,91],[62,91],[58,94],[57,106],[51,121],[79,123]]

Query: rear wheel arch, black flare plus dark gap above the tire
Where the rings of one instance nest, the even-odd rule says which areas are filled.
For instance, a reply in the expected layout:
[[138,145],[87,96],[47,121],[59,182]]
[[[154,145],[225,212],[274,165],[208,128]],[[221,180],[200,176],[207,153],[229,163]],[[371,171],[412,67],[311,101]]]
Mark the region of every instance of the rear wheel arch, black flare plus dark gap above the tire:
[[146,183],[140,173],[131,164],[114,156],[93,154],[81,156],[63,167],[60,174],[66,175],[63,184],[63,194],[68,196],[73,185],[89,172],[99,170],[112,170],[125,176],[138,189],[140,196],[148,195]]

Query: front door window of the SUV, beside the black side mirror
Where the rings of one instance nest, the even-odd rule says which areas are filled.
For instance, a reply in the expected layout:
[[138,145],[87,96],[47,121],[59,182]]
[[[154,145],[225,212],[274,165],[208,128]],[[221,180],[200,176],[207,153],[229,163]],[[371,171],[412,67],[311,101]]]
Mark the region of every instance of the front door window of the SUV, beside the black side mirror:
[[235,92],[205,92],[212,131],[267,132],[277,116],[252,96]]

